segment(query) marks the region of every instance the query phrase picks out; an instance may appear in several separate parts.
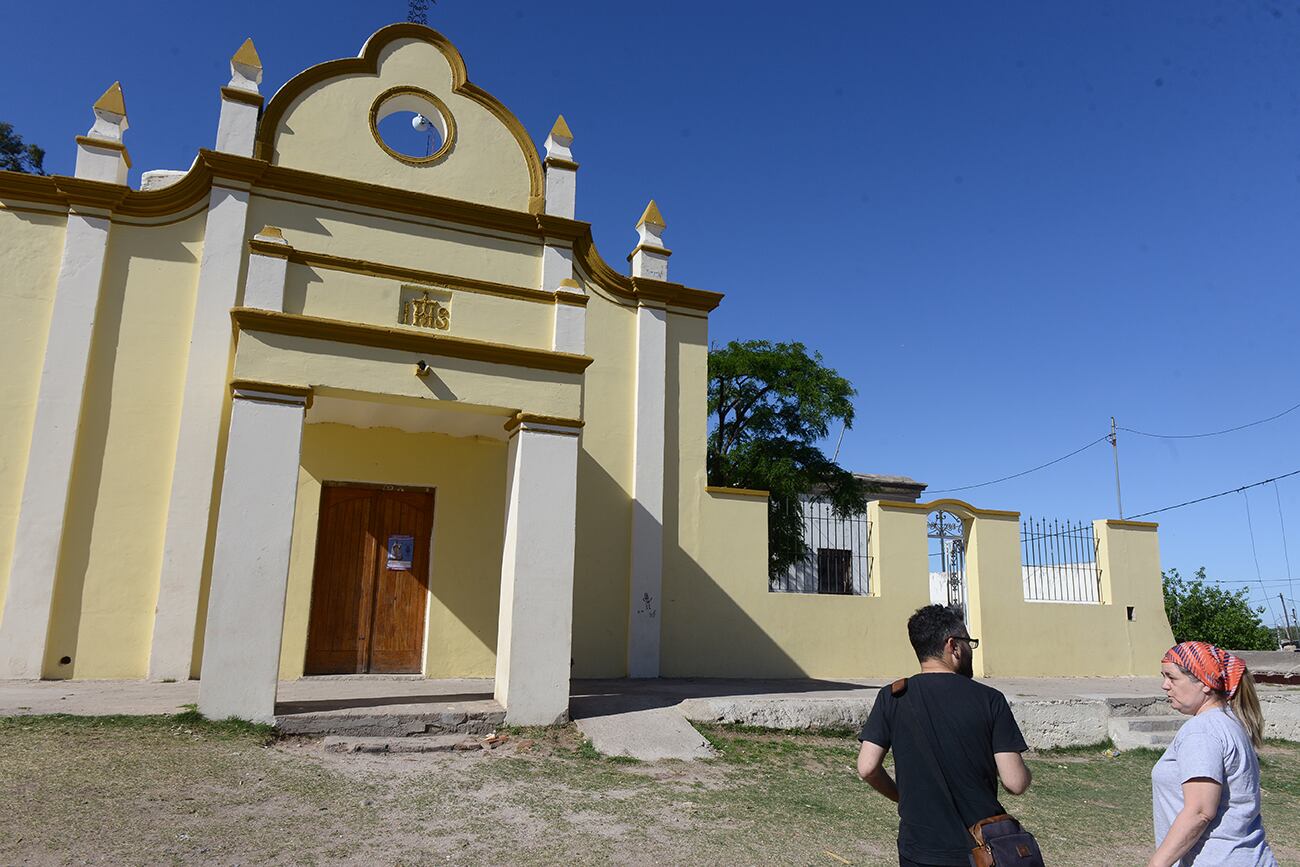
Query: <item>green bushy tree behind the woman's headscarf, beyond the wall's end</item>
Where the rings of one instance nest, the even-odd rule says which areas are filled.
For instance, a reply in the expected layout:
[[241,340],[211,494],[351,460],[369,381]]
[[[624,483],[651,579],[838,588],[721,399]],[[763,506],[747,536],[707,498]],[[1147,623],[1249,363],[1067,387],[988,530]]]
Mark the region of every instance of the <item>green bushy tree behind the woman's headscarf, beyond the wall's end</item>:
[[1165,614],[1174,641],[1208,641],[1228,650],[1277,650],[1273,629],[1264,625],[1264,608],[1252,608],[1249,591],[1210,584],[1205,567],[1184,578],[1178,569],[1161,572]]

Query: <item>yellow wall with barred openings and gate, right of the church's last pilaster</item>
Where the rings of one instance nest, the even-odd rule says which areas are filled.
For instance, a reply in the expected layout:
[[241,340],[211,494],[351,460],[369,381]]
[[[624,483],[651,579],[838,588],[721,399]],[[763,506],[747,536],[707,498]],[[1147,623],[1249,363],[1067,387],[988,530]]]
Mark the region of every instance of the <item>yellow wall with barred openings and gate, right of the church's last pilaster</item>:
[[[897,677],[930,604],[928,508],[872,503],[871,594],[770,593],[767,500],[705,490],[707,328],[672,317],[664,510],[664,676]],[[1105,604],[1024,601],[1018,516],[971,515],[967,582],[982,676],[1150,675],[1173,643],[1154,528],[1098,521]],[[1109,589],[1108,589],[1109,588]],[[1127,606],[1136,619],[1127,620]],[[1106,653],[1097,653],[1097,647]]]

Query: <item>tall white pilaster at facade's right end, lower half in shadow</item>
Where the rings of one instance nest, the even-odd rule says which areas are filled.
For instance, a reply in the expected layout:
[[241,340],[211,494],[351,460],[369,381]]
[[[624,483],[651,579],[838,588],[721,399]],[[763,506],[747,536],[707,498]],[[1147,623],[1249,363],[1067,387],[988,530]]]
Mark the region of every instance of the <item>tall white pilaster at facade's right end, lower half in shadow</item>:
[[668,315],[637,308],[636,421],[632,448],[632,584],[628,675],[659,676],[659,614],[663,610],[664,391]]

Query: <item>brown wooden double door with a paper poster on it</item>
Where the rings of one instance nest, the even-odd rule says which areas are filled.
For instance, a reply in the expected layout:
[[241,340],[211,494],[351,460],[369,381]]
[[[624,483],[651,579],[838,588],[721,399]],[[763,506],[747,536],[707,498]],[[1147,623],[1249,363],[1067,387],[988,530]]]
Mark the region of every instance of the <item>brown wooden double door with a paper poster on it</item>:
[[433,491],[321,489],[308,675],[419,673]]

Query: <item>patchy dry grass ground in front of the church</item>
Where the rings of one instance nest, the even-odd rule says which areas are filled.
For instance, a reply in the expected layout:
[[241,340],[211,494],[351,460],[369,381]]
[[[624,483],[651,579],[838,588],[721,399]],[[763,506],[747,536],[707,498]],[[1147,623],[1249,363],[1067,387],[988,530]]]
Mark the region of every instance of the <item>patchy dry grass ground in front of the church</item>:
[[[176,718],[0,719],[0,863],[888,864],[893,805],[857,742],[708,728],[699,763],[597,755],[572,728],[489,753],[335,755]],[[1048,863],[1141,864],[1156,753],[1031,754],[1005,798]],[[1300,863],[1300,745],[1264,750],[1264,816]]]

